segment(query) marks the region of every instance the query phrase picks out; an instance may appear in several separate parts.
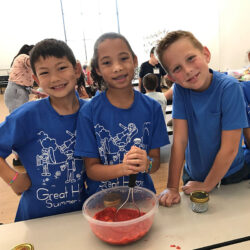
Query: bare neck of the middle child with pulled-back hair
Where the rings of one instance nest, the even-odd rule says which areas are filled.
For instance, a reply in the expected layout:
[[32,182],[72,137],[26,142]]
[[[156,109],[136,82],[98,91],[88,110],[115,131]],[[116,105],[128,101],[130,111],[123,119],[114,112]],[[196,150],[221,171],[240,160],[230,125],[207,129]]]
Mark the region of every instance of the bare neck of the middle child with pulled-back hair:
[[117,108],[128,109],[134,102],[133,88],[126,90],[108,89],[106,95],[109,102]]

